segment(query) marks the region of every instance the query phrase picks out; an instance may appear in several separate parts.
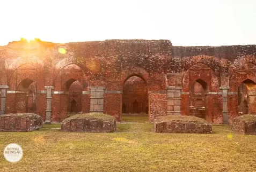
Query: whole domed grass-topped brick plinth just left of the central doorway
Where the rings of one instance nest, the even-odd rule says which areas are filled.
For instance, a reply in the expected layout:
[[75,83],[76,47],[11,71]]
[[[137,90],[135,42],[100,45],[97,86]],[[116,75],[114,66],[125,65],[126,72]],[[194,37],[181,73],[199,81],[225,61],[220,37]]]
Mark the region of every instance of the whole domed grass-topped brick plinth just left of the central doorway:
[[61,124],[61,130],[66,132],[114,132],[115,129],[115,118],[103,113],[73,115]]

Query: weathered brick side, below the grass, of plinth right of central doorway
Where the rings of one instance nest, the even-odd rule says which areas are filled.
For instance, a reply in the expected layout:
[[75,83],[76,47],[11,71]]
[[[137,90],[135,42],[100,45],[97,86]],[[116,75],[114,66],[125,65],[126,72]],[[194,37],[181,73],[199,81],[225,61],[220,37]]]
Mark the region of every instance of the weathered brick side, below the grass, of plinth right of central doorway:
[[[194,120],[165,120],[161,121],[162,117],[154,120],[155,132],[167,132],[167,133],[199,133],[199,134],[211,134],[212,126],[207,121],[199,122]],[[196,117],[195,117],[196,118]]]

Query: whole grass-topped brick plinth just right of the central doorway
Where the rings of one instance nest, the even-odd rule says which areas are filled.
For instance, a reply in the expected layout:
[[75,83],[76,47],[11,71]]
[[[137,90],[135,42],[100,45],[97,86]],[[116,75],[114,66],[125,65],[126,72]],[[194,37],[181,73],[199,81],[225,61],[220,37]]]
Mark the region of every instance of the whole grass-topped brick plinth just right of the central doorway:
[[169,115],[155,119],[155,132],[211,134],[212,125],[196,116]]

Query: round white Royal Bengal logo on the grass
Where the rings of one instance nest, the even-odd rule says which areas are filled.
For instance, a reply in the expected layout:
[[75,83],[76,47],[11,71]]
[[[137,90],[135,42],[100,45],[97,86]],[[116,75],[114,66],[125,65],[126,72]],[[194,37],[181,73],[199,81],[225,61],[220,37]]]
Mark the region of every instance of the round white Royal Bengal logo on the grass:
[[4,158],[9,162],[18,162],[23,157],[22,148],[15,143],[11,143],[4,148]]

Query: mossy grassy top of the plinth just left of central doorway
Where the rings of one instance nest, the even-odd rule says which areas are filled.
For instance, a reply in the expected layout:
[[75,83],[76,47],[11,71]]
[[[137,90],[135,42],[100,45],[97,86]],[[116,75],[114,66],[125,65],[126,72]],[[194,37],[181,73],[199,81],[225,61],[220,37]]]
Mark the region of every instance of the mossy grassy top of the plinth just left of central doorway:
[[83,114],[72,115],[69,118],[63,120],[62,122],[63,123],[68,122],[71,119],[90,119],[90,120],[103,120],[103,121],[113,122],[115,118],[111,115],[107,115],[104,113],[83,113]]

